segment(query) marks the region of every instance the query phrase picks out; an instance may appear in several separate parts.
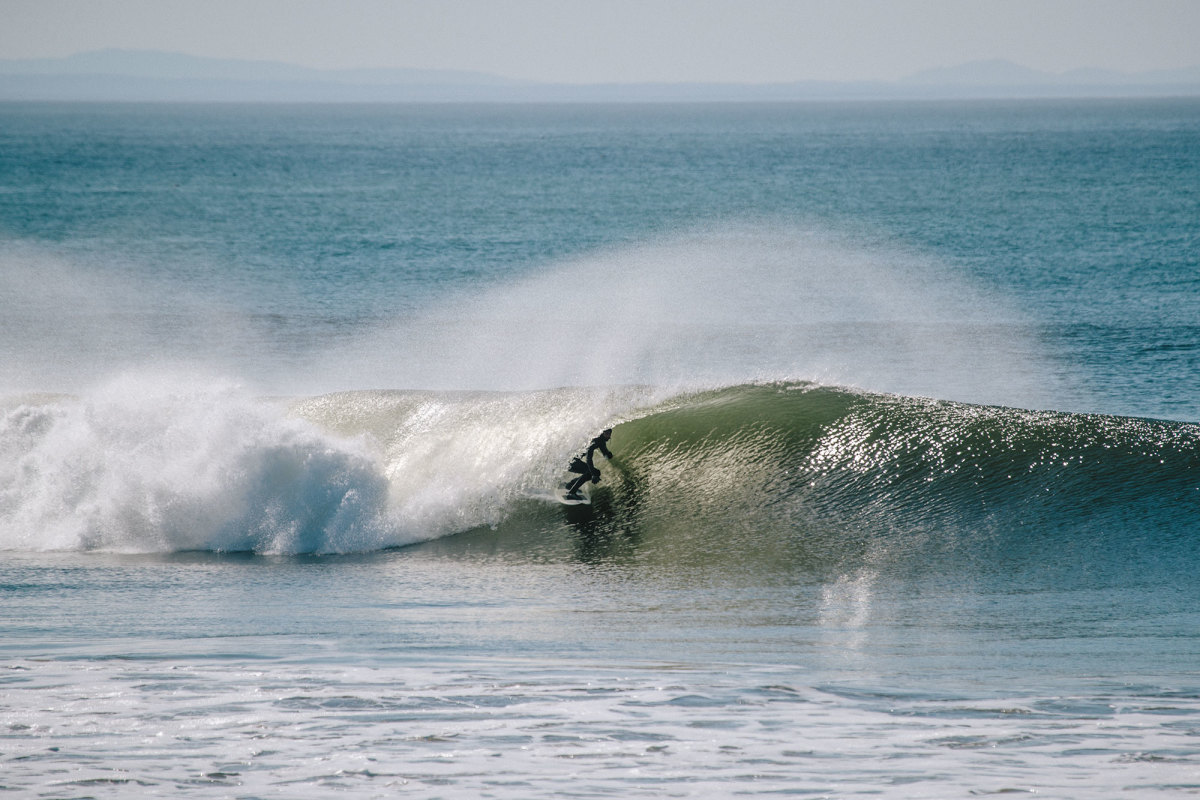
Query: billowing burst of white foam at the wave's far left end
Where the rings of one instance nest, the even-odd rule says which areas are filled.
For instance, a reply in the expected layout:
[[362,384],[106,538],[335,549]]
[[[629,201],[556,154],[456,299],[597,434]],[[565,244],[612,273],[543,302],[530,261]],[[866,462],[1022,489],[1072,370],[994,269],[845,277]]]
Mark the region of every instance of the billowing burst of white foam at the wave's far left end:
[[395,536],[364,441],[193,378],[10,402],[0,487],[10,549],[336,552]]

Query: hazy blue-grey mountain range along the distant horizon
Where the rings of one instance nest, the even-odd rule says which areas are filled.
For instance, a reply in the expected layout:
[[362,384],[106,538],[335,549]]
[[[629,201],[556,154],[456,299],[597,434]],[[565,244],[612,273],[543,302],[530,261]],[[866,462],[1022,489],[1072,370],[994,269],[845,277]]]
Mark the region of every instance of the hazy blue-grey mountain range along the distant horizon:
[[0,101],[104,102],[785,102],[1046,96],[1200,96],[1200,66],[1062,74],[1010,61],[925,70],[899,82],[550,84],[451,70],[313,70],[152,50],[0,60]]

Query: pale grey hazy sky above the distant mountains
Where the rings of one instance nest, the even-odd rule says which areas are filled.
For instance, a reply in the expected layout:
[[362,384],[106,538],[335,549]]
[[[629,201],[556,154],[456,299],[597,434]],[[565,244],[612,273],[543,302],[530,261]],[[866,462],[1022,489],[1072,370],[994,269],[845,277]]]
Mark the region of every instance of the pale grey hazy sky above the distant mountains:
[[0,59],[152,49],[551,83],[1200,64],[1200,0],[0,0]]

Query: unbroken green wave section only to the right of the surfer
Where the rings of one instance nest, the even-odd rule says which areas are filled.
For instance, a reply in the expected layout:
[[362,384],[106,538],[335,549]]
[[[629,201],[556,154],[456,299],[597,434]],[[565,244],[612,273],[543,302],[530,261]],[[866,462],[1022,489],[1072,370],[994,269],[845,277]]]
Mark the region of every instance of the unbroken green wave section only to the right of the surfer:
[[823,529],[842,548],[1186,535],[1200,501],[1200,427],[1180,422],[776,384],[692,396],[620,433],[631,491],[676,498],[656,513]]

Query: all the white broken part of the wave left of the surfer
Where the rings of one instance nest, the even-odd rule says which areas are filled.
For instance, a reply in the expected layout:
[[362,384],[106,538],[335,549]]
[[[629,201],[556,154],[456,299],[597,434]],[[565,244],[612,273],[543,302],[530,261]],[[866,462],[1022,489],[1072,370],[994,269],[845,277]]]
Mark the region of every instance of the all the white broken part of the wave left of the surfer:
[[264,398],[126,374],[0,402],[0,549],[344,553],[502,522],[643,393]]

